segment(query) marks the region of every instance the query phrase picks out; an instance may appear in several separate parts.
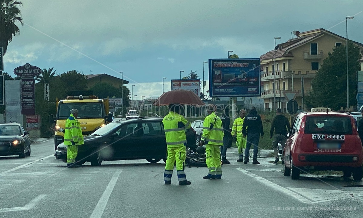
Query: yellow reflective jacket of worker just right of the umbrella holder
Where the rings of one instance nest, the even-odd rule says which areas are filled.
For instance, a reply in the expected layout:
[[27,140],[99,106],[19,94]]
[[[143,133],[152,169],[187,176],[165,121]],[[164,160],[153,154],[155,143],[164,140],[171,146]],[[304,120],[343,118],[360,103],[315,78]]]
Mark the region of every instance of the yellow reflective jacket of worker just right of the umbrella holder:
[[205,141],[206,144],[223,146],[223,137],[222,121],[212,112],[204,119],[203,134],[200,139]]

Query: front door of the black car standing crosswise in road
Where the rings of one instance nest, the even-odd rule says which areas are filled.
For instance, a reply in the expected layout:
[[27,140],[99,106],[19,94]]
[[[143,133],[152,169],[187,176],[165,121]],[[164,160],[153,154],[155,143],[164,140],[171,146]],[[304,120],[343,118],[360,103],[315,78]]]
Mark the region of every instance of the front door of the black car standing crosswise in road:
[[125,123],[111,136],[114,160],[127,160],[140,155],[137,145],[140,143],[140,128],[137,122]]

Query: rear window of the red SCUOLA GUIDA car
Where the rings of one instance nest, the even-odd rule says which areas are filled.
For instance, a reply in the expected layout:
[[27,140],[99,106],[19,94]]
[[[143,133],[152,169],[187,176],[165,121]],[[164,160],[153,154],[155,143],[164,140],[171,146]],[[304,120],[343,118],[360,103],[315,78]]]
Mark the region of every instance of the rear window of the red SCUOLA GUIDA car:
[[352,124],[349,117],[319,116],[307,117],[305,122],[306,134],[352,134]]

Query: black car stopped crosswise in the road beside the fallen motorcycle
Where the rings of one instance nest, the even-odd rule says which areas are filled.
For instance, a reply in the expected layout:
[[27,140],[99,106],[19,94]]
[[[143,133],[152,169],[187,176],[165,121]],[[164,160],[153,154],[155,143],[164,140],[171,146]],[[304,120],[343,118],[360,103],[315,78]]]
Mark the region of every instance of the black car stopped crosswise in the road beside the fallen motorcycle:
[[[78,146],[76,161],[101,165],[102,160],[146,159],[150,163],[166,161],[167,146],[162,126],[163,118],[138,118],[111,122],[84,137],[84,144]],[[187,131],[187,143],[195,145],[194,131]],[[67,146],[58,145],[54,155],[66,162]]]

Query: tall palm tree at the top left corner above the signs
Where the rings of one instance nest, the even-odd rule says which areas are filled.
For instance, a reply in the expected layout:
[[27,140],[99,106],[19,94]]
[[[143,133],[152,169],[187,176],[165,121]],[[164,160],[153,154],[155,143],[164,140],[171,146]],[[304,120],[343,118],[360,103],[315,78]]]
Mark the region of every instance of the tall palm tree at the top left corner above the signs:
[[16,22],[19,21],[23,25],[20,6],[23,6],[20,1],[0,0],[0,47],[4,47],[4,54],[13,36],[19,35],[20,30]]

